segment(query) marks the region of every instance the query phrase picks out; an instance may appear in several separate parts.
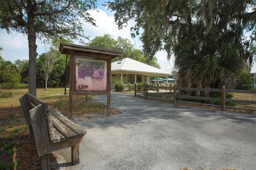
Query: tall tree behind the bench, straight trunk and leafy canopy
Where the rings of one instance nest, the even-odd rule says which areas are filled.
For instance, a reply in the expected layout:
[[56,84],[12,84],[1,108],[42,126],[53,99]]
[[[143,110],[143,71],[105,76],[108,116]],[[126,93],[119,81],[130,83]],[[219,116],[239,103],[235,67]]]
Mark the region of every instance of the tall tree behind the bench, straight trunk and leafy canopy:
[[86,38],[82,21],[95,25],[88,12],[95,7],[95,0],[0,0],[0,28],[28,36],[31,94],[36,95],[36,39]]

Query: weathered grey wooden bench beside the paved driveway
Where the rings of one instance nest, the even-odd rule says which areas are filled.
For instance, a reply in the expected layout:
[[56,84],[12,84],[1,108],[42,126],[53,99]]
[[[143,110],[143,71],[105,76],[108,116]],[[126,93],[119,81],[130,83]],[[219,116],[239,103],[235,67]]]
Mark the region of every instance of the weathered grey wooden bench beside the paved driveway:
[[44,101],[33,95],[23,95],[19,100],[29,125],[30,139],[36,144],[41,168],[50,169],[49,154],[68,147],[71,147],[72,164],[79,164],[79,144],[86,131],[59,111],[50,111]]

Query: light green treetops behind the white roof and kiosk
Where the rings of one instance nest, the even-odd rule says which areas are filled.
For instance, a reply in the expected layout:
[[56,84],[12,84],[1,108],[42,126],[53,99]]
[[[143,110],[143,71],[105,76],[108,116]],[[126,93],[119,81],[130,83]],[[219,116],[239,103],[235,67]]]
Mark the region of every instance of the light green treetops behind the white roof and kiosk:
[[159,64],[157,63],[157,58],[155,56],[150,59],[147,56],[143,56],[141,50],[135,49],[134,46],[131,44],[131,41],[127,38],[118,37],[117,39],[114,39],[110,35],[105,34],[103,36],[95,37],[89,43],[87,43],[87,45],[92,47],[119,50],[123,52],[122,57],[114,58],[113,61],[118,61],[122,58],[129,57],[133,60],[137,60],[139,62],[160,68]]

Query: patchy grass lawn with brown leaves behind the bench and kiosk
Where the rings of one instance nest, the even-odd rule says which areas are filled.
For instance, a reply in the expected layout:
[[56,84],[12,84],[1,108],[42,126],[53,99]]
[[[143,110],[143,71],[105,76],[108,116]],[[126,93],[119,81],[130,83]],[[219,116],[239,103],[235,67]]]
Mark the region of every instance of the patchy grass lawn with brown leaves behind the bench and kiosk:
[[[26,94],[26,84],[12,91],[12,97],[0,98],[0,169],[38,169],[39,158],[34,145],[29,140],[29,130],[23,117],[19,97]],[[64,88],[37,89],[37,97],[46,101],[50,109],[57,109],[63,115],[69,116],[69,96],[63,95]],[[68,93],[68,89],[67,89]],[[85,96],[74,96],[73,115],[84,121],[89,118],[105,117],[107,107],[95,103],[89,96],[85,103]],[[119,114],[111,108],[111,114]],[[54,160],[54,156],[51,156]]]

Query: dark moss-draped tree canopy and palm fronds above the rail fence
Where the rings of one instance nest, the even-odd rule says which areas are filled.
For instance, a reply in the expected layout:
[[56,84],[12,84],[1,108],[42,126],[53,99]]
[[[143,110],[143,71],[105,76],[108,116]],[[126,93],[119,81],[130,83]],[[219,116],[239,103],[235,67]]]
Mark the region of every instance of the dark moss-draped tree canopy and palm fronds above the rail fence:
[[175,56],[180,86],[234,87],[238,73],[255,57],[254,0],[116,0],[106,5],[115,11],[119,28],[132,19],[132,36],[143,30],[146,55],[165,50],[167,58]]

